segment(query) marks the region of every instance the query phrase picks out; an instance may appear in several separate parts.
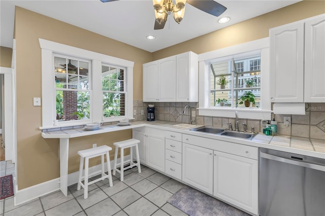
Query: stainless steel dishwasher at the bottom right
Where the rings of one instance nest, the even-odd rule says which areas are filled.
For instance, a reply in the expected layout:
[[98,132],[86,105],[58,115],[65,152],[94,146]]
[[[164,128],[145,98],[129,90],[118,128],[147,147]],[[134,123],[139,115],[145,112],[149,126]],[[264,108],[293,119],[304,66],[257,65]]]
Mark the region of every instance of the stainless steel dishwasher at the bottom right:
[[259,150],[259,215],[325,215],[325,159]]

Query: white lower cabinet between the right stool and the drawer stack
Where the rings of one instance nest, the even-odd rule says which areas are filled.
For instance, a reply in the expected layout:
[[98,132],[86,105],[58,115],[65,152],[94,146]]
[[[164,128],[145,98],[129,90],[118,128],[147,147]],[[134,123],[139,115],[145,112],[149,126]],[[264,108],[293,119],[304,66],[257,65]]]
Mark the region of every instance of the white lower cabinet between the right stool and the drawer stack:
[[133,130],[133,137],[140,140],[138,144],[140,162],[165,172],[165,131],[142,128]]

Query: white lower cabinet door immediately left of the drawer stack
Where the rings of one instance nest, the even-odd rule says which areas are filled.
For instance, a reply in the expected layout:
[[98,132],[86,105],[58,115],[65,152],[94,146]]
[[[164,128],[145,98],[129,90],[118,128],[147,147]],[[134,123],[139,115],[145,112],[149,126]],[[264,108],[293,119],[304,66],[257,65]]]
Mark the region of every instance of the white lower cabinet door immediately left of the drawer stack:
[[165,137],[145,134],[145,142],[148,166],[165,172]]

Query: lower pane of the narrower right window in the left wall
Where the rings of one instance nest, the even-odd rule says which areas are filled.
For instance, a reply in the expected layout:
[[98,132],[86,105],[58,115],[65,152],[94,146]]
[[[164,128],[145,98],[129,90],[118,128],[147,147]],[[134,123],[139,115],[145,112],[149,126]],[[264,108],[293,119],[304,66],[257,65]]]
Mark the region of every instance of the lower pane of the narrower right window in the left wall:
[[103,93],[103,116],[124,116],[125,115],[125,94],[124,93]]

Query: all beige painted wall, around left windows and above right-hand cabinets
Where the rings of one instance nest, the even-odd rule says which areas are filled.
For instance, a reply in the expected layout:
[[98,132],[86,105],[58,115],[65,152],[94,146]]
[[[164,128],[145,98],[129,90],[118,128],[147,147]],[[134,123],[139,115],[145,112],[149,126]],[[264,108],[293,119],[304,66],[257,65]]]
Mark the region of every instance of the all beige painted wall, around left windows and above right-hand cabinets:
[[[136,100],[142,99],[142,64],[145,62],[189,50],[200,54],[265,38],[269,35],[269,28],[325,13],[324,8],[324,1],[304,1],[179,45],[149,53],[17,7],[15,38],[18,189],[59,177],[58,139],[42,138],[39,130],[42,110],[40,106],[32,106],[32,97],[42,96],[39,38],[134,61],[134,99]],[[127,130],[71,139],[69,173],[78,170],[78,150],[91,148],[92,143],[98,143],[99,146],[104,144],[112,146],[113,141],[131,136],[131,130]],[[113,159],[112,152],[111,159]]]

